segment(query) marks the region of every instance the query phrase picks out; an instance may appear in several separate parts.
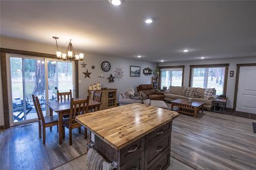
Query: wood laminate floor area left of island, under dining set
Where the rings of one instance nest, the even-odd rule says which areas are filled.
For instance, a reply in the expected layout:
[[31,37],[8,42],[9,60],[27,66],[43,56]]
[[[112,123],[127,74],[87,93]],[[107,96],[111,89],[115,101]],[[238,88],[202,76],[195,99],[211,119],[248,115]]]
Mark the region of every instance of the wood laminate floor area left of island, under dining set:
[[[83,128],[82,128],[83,129]],[[69,133],[58,143],[56,126],[46,129],[46,144],[38,137],[38,123],[15,126],[0,131],[0,169],[53,169],[86,154],[86,143],[78,130],[73,130],[73,145]]]

